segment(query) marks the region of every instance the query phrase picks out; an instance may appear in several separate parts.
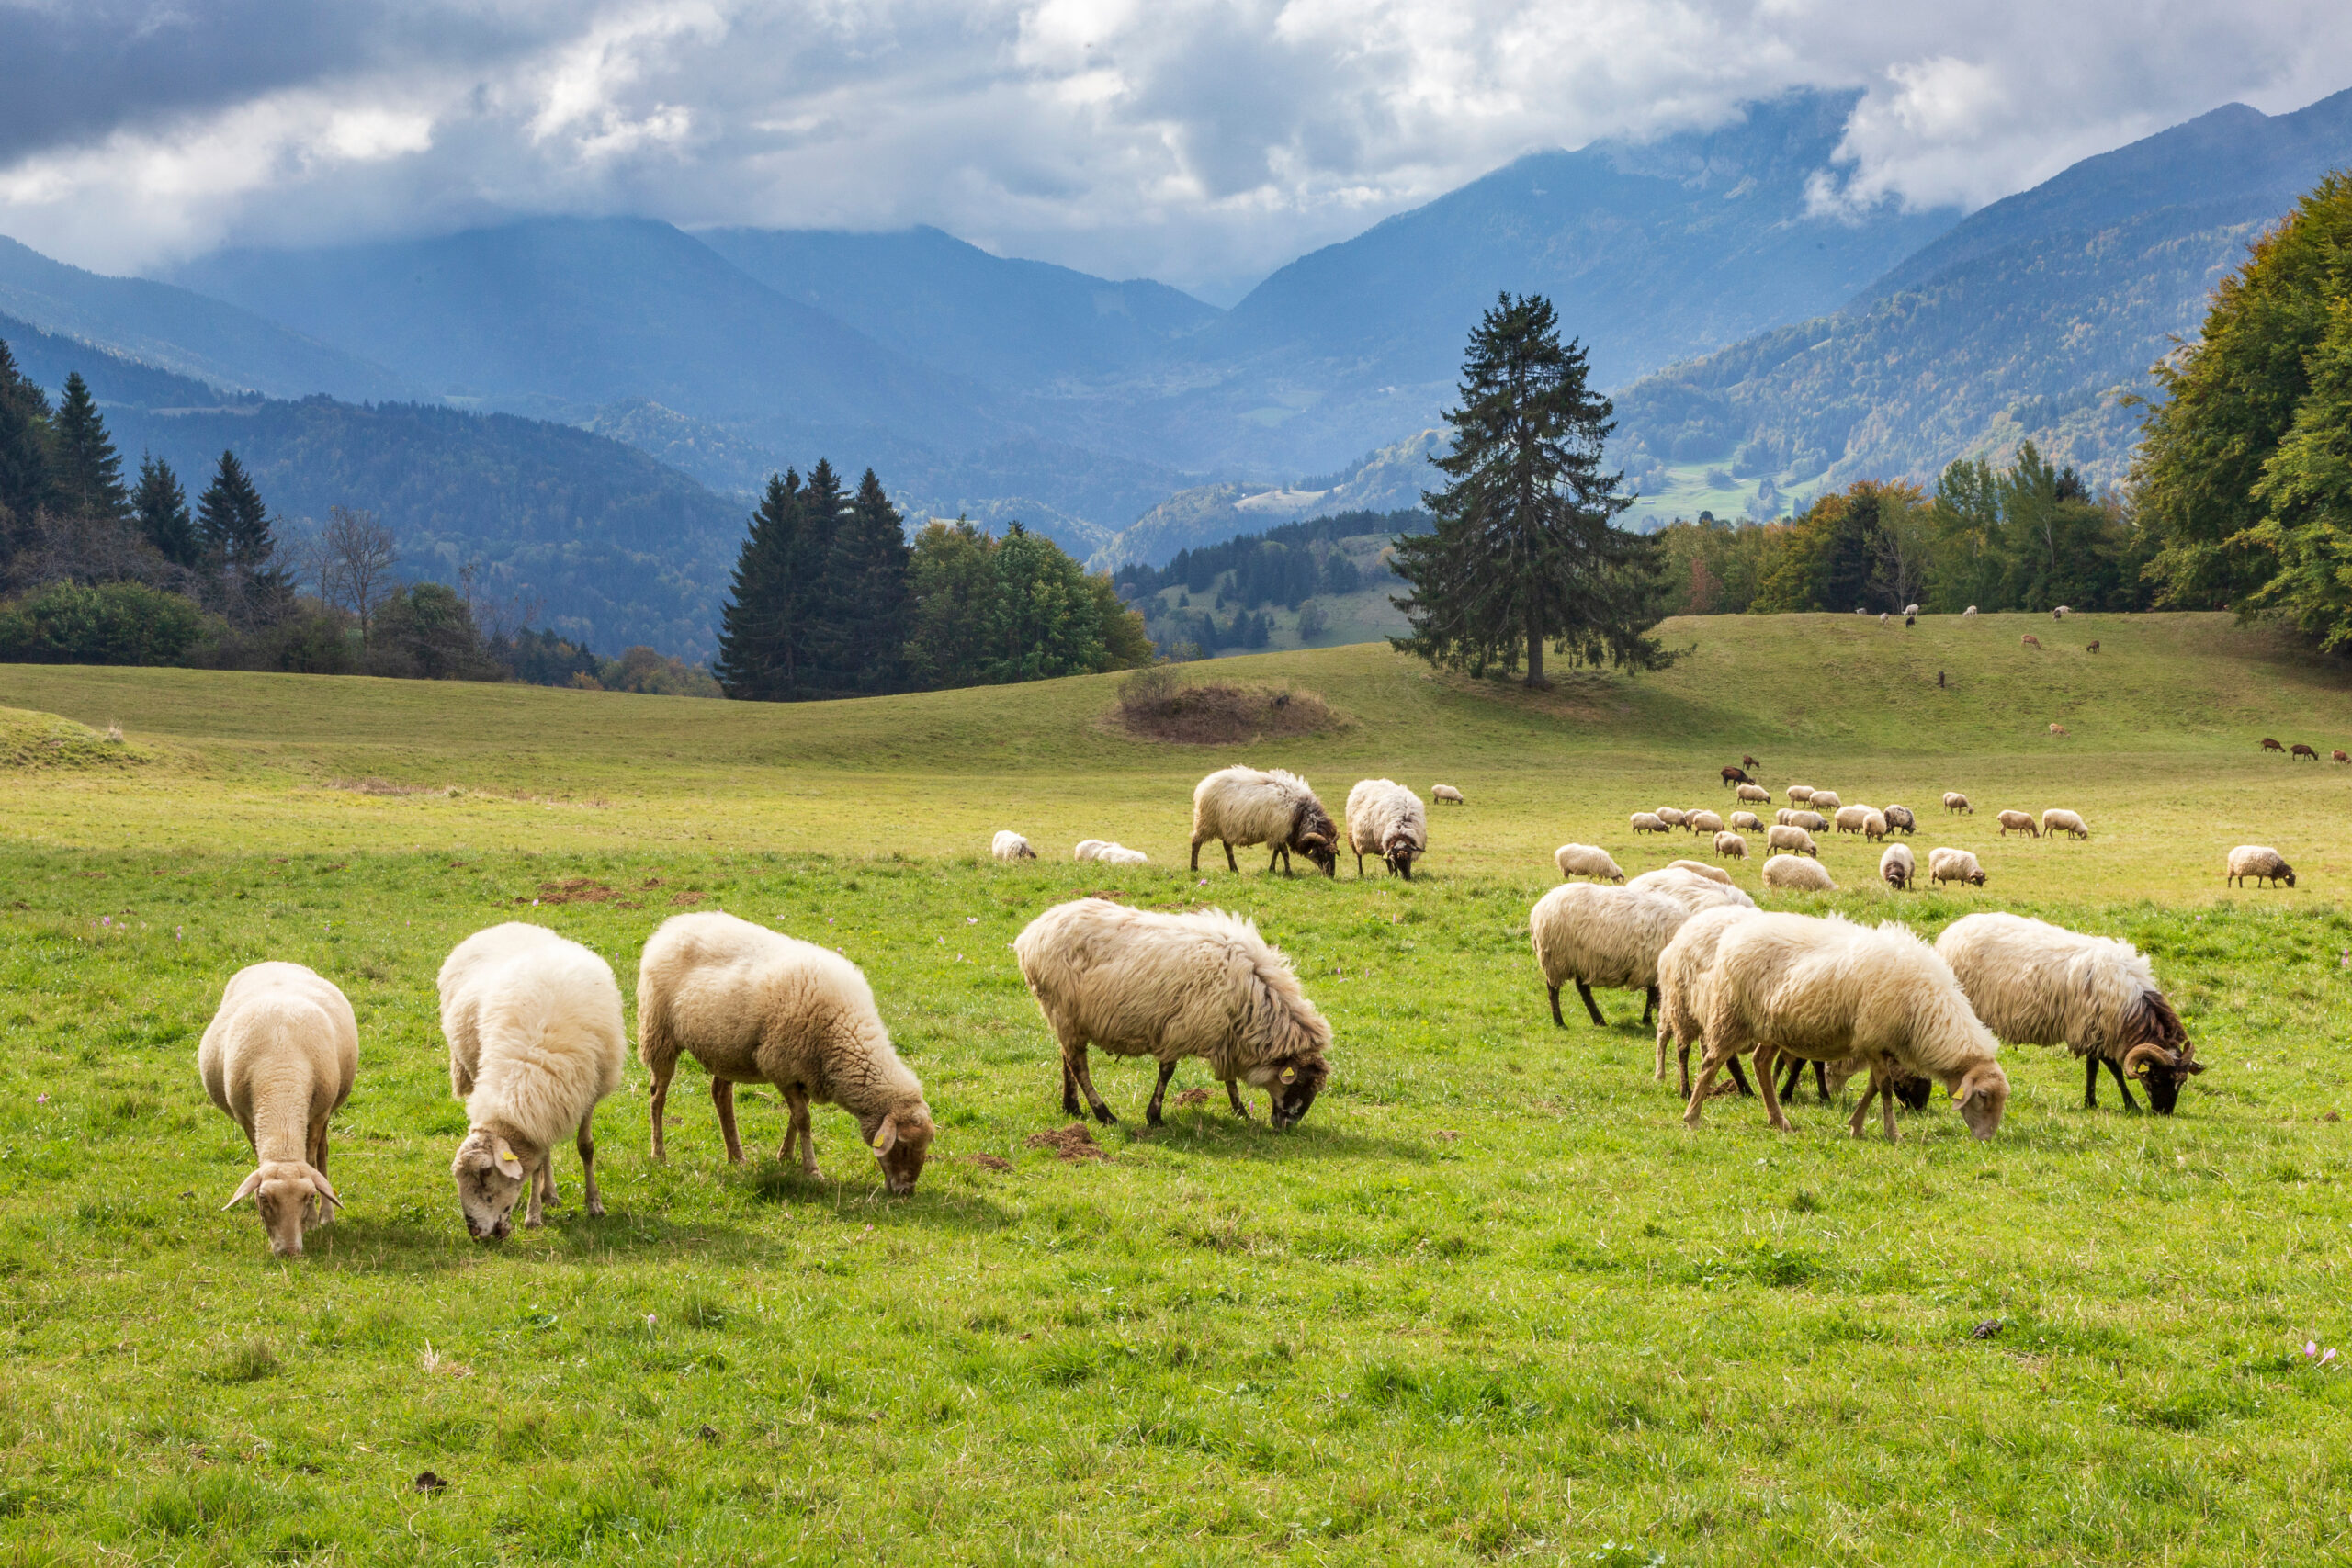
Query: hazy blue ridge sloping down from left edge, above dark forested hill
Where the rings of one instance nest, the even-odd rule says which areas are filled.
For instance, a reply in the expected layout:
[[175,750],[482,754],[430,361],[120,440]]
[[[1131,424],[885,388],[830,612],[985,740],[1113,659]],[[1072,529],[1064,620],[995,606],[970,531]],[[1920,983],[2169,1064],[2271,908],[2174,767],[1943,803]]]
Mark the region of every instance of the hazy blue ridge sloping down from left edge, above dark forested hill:
[[0,313],[165,371],[270,397],[414,397],[362,357],[146,277],[103,277],[0,237]]

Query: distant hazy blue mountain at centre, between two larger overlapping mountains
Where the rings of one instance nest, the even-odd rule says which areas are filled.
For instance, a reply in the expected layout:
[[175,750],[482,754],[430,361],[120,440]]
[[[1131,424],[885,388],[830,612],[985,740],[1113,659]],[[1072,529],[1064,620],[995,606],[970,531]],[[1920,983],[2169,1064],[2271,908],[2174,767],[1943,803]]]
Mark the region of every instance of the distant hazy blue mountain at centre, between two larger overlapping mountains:
[[1009,261],[936,228],[710,228],[696,237],[786,299],[910,360],[1021,393],[1157,357],[1223,315],[1164,282]]

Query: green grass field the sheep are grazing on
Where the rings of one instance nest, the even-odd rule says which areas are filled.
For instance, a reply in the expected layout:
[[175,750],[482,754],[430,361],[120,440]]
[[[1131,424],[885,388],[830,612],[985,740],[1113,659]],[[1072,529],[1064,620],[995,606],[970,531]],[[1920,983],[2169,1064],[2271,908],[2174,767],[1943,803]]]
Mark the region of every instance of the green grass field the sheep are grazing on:
[[[1228,748],[1124,736],[1110,677],[757,708],[0,668],[0,1561],[2352,1559],[2352,769],[2256,750],[2352,748],[2352,679],[2220,616],[1665,635],[1675,670],[1545,696],[1381,646],[1195,665],[1343,715]],[[1625,816],[1729,809],[1743,752],[1992,872],[1893,896],[1825,842],[1844,891],[1783,907],[2140,943],[2211,1063],[2180,1114],[2084,1112],[2070,1058],[2013,1048],[1985,1145],[1943,1105],[1853,1143],[1809,1095],[1792,1135],[1738,1100],[1693,1135],[1639,999],[1555,1030],[1550,849],[1691,853]],[[1190,875],[1190,785],[1235,759],[1470,804],[1414,884]],[[2093,839],[1994,837],[2053,804]],[[988,863],[995,827],[1047,860]],[[2246,839],[2298,886],[2223,889]],[[1030,1147],[1065,1117],[1007,943],[1091,891],[1291,954],[1336,1030],[1301,1128],[1211,1100],[1145,1133],[1150,1070],[1103,1065],[1108,1159]],[[774,1093],[729,1168],[691,1067],[652,1166],[637,1072],[607,1218],[564,1154],[543,1232],[466,1241],[442,954],[539,919],[630,990],[680,907],[866,966],[941,1119],[920,1190],[835,1110],[826,1180],[779,1171]],[[348,1215],[287,1262],[219,1213],[249,1154],[193,1063],[263,957],[362,1032]]]

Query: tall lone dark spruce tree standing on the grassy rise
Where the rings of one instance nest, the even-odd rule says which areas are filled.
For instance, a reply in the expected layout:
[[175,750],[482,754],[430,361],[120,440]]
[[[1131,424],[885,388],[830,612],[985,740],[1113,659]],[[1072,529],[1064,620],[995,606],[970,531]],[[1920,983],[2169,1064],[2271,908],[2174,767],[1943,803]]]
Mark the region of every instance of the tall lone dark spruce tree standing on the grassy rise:
[[1437,527],[1392,557],[1414,628],[1395,646],[1472,672],[1524,658],[1529,686],[1550,684],[1545,644],[1571,663],[1668,661],[1644,635],[1658,621],[1656,545],[1611,522],[1632,498],[1602,473],[1613,409],[1585,374],[1541,294],[1503,294],[1479,320],[1446,414],[1454,451],[1432,458],[1451,482],[1423,494]]

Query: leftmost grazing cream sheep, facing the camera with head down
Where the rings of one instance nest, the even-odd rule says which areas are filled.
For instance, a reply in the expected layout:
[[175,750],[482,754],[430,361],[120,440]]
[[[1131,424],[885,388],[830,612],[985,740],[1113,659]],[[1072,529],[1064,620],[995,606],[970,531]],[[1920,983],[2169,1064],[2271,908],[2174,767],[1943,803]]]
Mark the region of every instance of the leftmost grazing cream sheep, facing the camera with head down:
[[221,1206],[254,1199],[270,1253],[301,1258],[303,1232],[341,1208],[327,1180],[327,1119],[350,1098],[360,1023],[332,980],[301,964],[249,964],[195,1046],[212,1103],[245,1128],[254,1173]]

